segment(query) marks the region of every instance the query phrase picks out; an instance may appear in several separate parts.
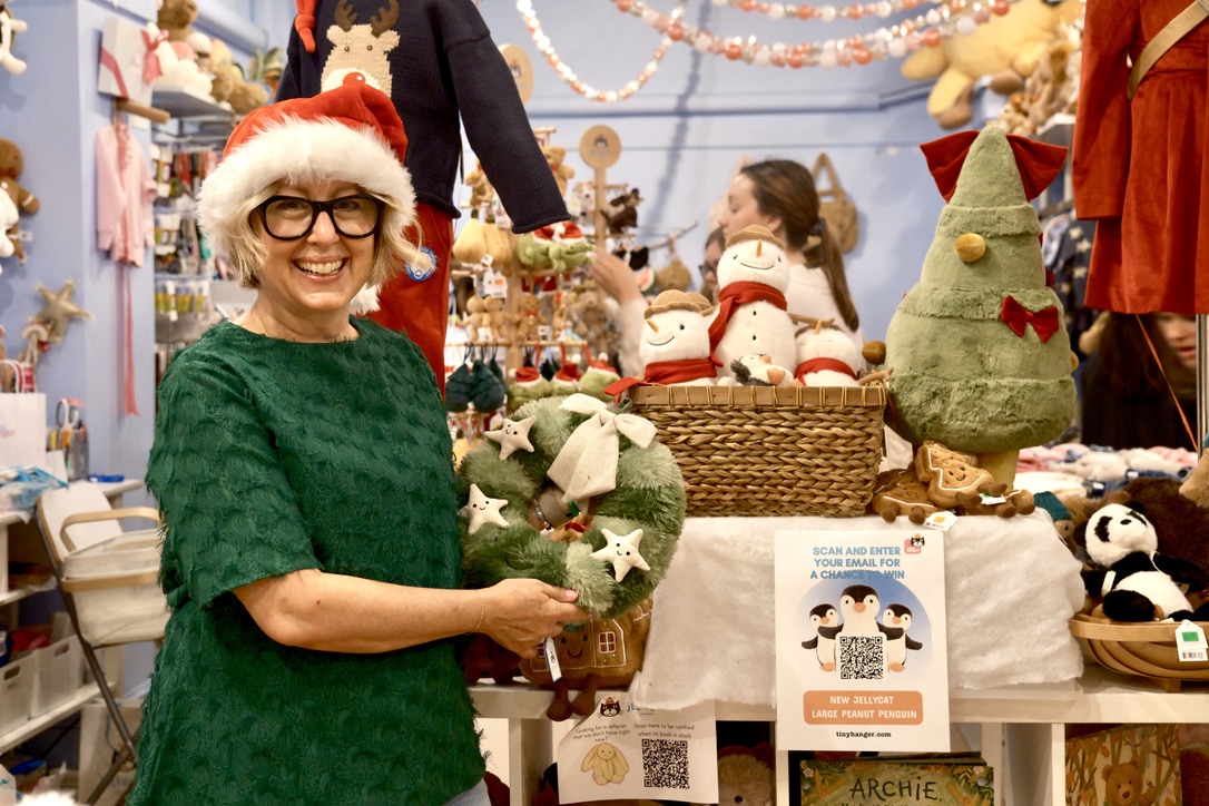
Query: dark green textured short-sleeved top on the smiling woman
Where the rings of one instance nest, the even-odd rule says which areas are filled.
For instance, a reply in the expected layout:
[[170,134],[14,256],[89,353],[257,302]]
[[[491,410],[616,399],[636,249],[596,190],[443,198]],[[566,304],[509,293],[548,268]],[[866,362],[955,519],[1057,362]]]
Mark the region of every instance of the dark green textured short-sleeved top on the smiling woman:
[[160,387],[147,487],[172,607],[129,804],[444,804],[484,773],[452,640],[369,655],[270,639],[231,591],[320,568],[456,587],[451,443],[405,337],[222,323]]

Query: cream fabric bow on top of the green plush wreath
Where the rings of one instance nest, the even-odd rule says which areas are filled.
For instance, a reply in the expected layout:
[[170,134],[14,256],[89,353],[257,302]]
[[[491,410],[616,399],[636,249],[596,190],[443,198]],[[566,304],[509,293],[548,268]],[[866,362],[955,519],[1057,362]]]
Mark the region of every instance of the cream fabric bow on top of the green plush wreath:
[[619,433],[642,448],[655,439],[655,425],[649,419],[614,413],[603,400],[583,393],[569,395],[559,408],[591,414],[571,434],[545,472],[565,491],[565,504],[617,488]]

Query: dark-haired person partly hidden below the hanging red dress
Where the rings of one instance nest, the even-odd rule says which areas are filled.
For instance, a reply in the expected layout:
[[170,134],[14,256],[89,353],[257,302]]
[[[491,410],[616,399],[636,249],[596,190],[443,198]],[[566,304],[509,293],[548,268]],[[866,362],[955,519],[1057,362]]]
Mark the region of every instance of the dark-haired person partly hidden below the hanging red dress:
[[1117,450],[1196,450],[1184,425],[1187,419],[1196,429],[1196,379],[1193,317],[1109,314],[1099,344],[1081,367],[1082,441]]

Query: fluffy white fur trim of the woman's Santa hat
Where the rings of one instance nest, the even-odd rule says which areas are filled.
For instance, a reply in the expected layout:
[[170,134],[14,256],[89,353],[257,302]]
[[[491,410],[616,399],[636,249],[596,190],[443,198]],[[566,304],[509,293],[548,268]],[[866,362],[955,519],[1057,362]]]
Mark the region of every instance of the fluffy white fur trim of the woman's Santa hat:
[[229,254],[224,225],[245,199],[273,182],[306,179],[352,182],[395,199],[407,221],[415,215],[411,178],[371,128],[288,116],[250,133],[202,184],[197,213],[212,247]]

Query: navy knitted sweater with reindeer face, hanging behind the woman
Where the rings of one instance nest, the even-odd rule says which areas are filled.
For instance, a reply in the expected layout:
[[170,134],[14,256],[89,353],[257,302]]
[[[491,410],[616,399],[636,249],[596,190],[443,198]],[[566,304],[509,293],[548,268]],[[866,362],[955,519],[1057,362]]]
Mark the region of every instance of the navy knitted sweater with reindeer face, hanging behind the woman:
[[[311,5],[313,28],[300,24]],[[317,95],[360,73],[403,118],[418,201],[457,218],[461,117],[515,232],[571,218],[474,0],[299,0],[299,7],[277,100]],[[300,28],[314,37],[313,52]]]

